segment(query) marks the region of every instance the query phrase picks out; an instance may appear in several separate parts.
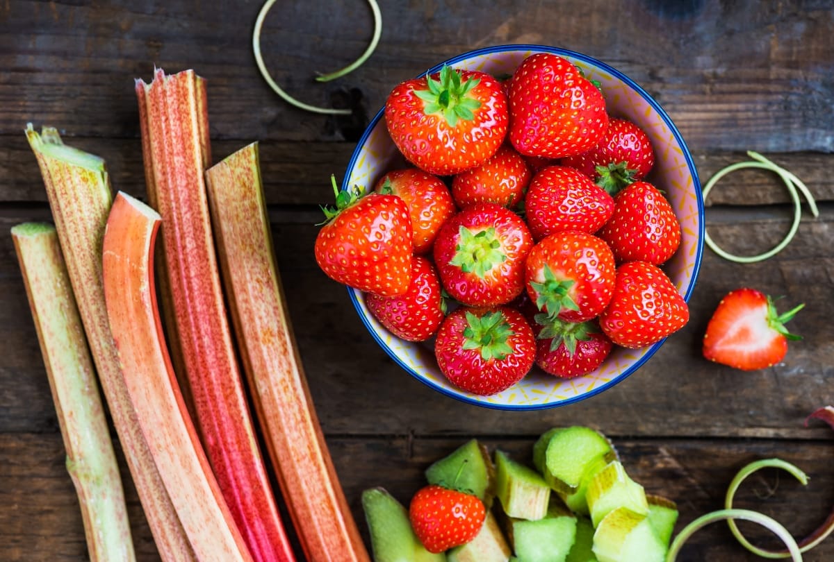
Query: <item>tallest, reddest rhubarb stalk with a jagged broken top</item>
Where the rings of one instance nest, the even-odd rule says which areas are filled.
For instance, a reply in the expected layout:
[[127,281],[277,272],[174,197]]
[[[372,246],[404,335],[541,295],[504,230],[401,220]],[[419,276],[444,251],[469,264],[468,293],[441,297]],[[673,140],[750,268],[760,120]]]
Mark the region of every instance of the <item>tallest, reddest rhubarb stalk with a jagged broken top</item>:
[[176,332],[208,460],[255,560],[294,560],[249,414],[224,306],[203,172],[205,85],[193,71],[138,80],[148,190],[162,236]]

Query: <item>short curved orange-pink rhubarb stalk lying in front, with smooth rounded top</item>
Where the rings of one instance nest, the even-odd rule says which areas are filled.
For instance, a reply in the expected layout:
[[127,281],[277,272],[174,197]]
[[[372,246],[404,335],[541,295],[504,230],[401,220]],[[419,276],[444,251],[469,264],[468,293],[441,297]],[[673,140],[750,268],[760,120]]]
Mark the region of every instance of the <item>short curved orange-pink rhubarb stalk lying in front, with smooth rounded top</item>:
[[104,296],[142,433],[198,560],[252,560],[188,417],[153,281],[159,215],[118,193],[103,243]]

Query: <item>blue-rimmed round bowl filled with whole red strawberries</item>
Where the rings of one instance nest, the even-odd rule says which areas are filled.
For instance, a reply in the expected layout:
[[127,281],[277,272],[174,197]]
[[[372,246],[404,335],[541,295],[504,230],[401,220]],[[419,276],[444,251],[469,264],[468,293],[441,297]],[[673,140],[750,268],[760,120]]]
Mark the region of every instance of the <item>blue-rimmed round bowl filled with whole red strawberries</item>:
[[637,371],[689,319],[704,204],[680,132],[604,62],[485,47],[397,84],[315,244],[418,380],[507,410]]

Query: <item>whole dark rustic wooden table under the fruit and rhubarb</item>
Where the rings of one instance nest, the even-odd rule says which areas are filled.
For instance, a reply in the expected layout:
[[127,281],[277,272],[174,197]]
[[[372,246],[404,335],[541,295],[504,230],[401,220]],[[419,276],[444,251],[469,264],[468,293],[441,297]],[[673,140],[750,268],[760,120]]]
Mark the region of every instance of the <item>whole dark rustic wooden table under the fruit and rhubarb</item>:
[[[520,458],[544,430],[584,424],[614,440],[646,490],[676,500],[682,525],[721,508],[726,486],[751,460],[780,457],[805,470],[756,475],[738,504],[764,510],[804,535],[834,504],[834,439],[806,415],[834,404],[834,7],[830,2],[383,0],[379,47],[356,72],[311,80],[354,60],[369,41],[361,0],[279,2],[264,26],[274,77],[306,102],[354,107],[324,117],[289,107],[255,66],[251,33],[260,2],[28,2],[0,5],[0,560],[84,560],[82,521],[8,231],[50,217],[23,136],[27,122],[58,127],[65,142],[108,162],[113,187],[144,196],[133,79],[153,66],[193,67],[208,79],[214,160],[251,141],[262,166],[277,258],[315,405],[354,515],[362,490],[384,485],[400,500],[422,470],[470,437]],[[702,181],[746,150],[803,178],[820,216],[807,211],[785,251],[751,265],[705,251],[691,321],[614,388],[553,410],[465,405],[401,371],[374,344],[344,289],[316,267],[317,206],[341,177],[354,143],[394,83],[474,47],[534,42],[568,47],[620,68],[670,113]],[[771,247],[791,204],[774,177],[739,172],[710,197],[707,226],[731,251]],[[758,372],[701,357],[711,311],[726,292],[754,286],[784,296],[804,336],[786,360]],[[123,475],[127,470],[122,463]],[[126,478],[140,560],[157,560]],[[751,531],[754,532],[755,531]],[[367,537],[367,535],[365,535]],[[761,541],[769,540],[758,535]],[[772,543],[770,543],[772,544]],[[756,560],[726,525],[696,535],[680,560]],[[806,555],[834,560],[834,539]]]

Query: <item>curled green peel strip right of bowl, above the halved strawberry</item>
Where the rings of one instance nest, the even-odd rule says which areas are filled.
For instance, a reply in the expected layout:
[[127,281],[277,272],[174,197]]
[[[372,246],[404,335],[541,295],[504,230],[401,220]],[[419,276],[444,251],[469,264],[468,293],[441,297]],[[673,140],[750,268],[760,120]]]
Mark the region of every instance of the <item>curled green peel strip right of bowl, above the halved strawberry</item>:
[[728,251],[724,251],[721,249],[720,246],[716,244],[715,241],[712,240],[710,235],[704,231],[704,241],[706,242],[707,246],[710,246],[711,250],[716,252],[719,256],[723,257],[729,261],[735,261],[736,263],[754,263],[756,261],[764,261],[772,256],[775,256],[777,253],[782,251],[785,246],[787,246],[793,237],[796,235],[796,231],[799,229],[799,223],[801,221],[802,215],[802,206],[801,201],[799,198],[798,191],[801,191],[802,195],[805,196],[806,201],[808,201],[808,206],[811,209],[811,214],[816,218],[819,216],[819,211],[816,208],[816,201],[814,201],[814,197],[811,195],[811,191],[808,190],[806,185],[801,182],[801,180],[796,177],[793,173],[788,172],[785,168],[779,166],[778,164],[771,162],[766,157],[761,156],[758,152],[747,151],[747,155],[753,159],[753,161],[748,162],[736,162],[735,164],[731,164],[730,166],[721,168],[716,174],[710,178],[709,182],[706,182],[706,186],[702,191],[704,201],[706,201],[706,197],[710,194],[712,187],[716,185],[718,180],[722,177],[726,176],[730,172],[735,172],[736,170],[740,170],[741,168],[761,168],[763,170],[768,170],[770,172],[776,173],[781,178],[781,181],[785,183],[785,187],[787,188],[788,193],[791,195],[791,200],[793,201],[794,206],[794,213],[793,213],[793,223],[791,224],[791,229],[788,231],[786,236],[782,239],[781,242],[773,246],[770,250],[765,251],[761,254],[756,256],[736,256],[731,254]]

